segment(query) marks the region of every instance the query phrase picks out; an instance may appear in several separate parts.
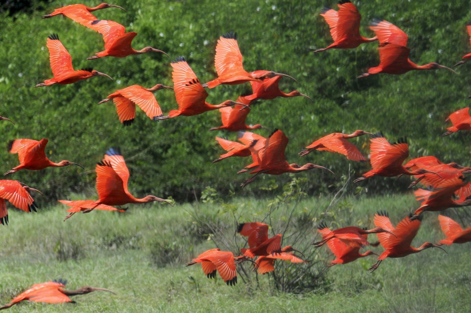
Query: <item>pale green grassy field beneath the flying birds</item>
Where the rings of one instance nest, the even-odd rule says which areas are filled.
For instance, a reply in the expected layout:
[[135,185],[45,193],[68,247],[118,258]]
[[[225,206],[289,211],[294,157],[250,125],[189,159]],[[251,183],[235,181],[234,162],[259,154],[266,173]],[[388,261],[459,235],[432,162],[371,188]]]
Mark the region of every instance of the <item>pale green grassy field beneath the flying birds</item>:
[[[376,210],[388,210],[395,224],[416,205],[410,194],[342,198],[333,210],[323,212],[330,200],[328,197],[302,200],[296,214],[317,206],[320,209],[313,216],[313,225],[320,219],[327,222],[335,219],[341,226],[361,222],[369,227]],[[240,222],[246,222],[255,219],[266,208],[267,201],[233,199],[229,205],[237,206],[242,216]],[[199,203],[199,210],[205,214],[220,209],[217,202]],[[10,224],[1,227],[0,233],[1,303],[7,303],[33,283],[62,278],[69,281],[69,289],[89,285],[110,288],[117,295],[95,292],[74,297],[77,304],[23,303],[10,311],[471,311],[471,252],[467,245],[445,247],[448,254],[428,249],[402,259],[387,259],[373,274],[366,272],[366,268],[375,262],[374,256],[336,265],[326,272],[318,290],[303,294],[273,290],[267,275],[259,277],[259,288],[247,286],[241,280],[231,288],[219,276],[208,280],[199,265],[184,266],[192,256],[214,247],[211,240],[196,239],[204,236],[193,220],[194,210],[195,205],[191,204],[174,208],[154,204],[133,206],[123,214],[98,211],[76,214],[62,222],[66,215],[64,206],[42,209],[37,214],[10,209]],[[226,215],[220,214],[221,219]],[[313,230],[305,240],[311,242],[315,235]],[[413,246],[442,238],[437,214],[426,214]],[[285,240],[283,244],[290,243]],[[325,262],[333,259],[327,247],[320,249],[316,258]]]

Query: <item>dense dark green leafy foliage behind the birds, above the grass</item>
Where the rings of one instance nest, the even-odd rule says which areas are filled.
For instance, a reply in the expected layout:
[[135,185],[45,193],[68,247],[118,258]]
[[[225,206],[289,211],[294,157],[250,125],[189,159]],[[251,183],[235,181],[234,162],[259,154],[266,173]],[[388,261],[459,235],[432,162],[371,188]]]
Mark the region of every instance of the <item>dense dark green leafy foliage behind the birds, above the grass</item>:
[[[111,0],[110,0],[111,1]],[[208,132],[220,125],[219,112],[194,117],[178,117],[160,123],[150,121],[137,109],[136,120],[122,127],[110,102],[97,102],[118,89],[131,84],[150,88],[156,83],[171,85],[170,59],[160,53],[127,58],[85,58],[103,50],[103,41],[93,32],[72,20],[55,16],[41,19],[54,8],[76,0],[51,1],[47,10],[32,13],[0,13],[0,114],[16,122],[1,123],[2,141],[14,138],[48,138],[47,155],[58,162],[68,159],[86,167],[22,171],[11,177],[40,188],[50,198],[64,198],[70,192],[94,193],[94,164],[110,146],[120,146],[131,171],[130,190],[139,196],[193,198],[206,186],[227,193],[235,190],[246,178],[235,175],[250,160],[229,158],[217,164],[211,161],[223,153],[215,135],[235,140],[235,134]],[[93,6],[97,1],[82,1]],[[339,174],[347,172],[349,161],[338,154],[311,153],[297,158],[297,153],[313,139],[330,132],[383,131],[391,141],[407,136],[411,156],[435,155],[443,161],[468,164],[469,133],[442,138],[448,114],[467,106],[469,65],[461,66],[460,75],[447,70],[414,71],[404,75],[374,75],[357,80],[370,66],[379,63],[377,43],[350,50],[328,50],[313,54],[313,49],[329,45],[328,26],[319,9],[334,6],[336,1],[306,0],[201,0],[151,1],[115,0],[116,8],[96,11],[101,19],[111,19],[135,31],[136,49],[153,46],[172,58],[185,56],[202,82],[213,79],[214,48],[219,35],[234,30],[244,55],[244,67],[275,70],[291,74],[298,83],[283,79],[284,91],[299,90],[308,99],[274,99],[253,106],[247,118],[250,124],[260,123],[270,129],[279,128],[290,139],[286,156],[290,163],[313,162],[326,165],[336,177],[315,170],[302,173],[312,177],[311,190],[325,190],[337,183]],[[34,4],[32,5],[34,8]],[[398,25],[408,35],[410,58],[418,63],[438,62],[452,66],[469,52],[465,31],[471,19],[466,1],[361,1],[363,16],[360,31],[373,36],[367,28],[373,17],[384,18]],[[33,88],[51,78],[46,38],[58,33],[72,55],[73,66],[94,69],[111,75],[93,77],[71,85]],[[249,92],[250,85],[219,86],[209,91],[208,102],[221,103]],[[155,93],[162,110],[177,107],[173,93]],[[269,132],[262,130],[262,135]],[[352,140],[367,154],[367,138]],[[3,171],[17,165],[17,157],[0,153]],[[368,164],[353,164],[360,175]],[[262,175],[263,176],[263,175]],[[315,178],[314,178],[315,177]],[[258,190],[275,179],[279,186],[288,175],[260,177],[244,190]],[[322,181],[322,183],[321,183]],[[326,183],[327,182],[327,183]],[[409,181],[373,178],[362,186],[370,190],[403,189]],[[248,190],[248,191],[247,191]],[[259,192],[259,191],[257,191]]]

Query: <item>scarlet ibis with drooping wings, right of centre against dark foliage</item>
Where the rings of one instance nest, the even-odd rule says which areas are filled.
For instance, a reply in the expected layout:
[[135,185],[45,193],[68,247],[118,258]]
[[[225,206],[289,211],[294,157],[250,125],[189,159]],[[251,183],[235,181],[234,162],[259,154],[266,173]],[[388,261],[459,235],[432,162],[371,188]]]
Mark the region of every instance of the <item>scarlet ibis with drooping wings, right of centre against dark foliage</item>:
[[357,130],[352,134],[342,134],[341,132],[334,132],[330,135],[324,136],[319,140],[314,141],[312,144],[302,150],[299,154],[300,157],[307,155],[309,152],[314,150],[329,151],[341,153],[347,156],[347,159],[353,161],[367,161],[361,154],[360,150],[353,143],[347,141],[347,139],[355,138],[363,135],[373,135],[371,132],[364,132]]

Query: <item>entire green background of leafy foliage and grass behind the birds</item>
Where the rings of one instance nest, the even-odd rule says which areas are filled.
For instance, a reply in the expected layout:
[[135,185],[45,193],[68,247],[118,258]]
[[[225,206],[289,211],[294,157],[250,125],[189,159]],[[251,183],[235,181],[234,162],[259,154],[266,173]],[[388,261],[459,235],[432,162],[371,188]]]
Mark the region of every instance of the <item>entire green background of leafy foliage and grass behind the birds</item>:
[[[325,152],[313,152],[298,159],[297,153],[325,134],[363,129],[382,131],[390,141],[407,137],[412,157],[434,155],[444,162],[469,165],[469,134],[441,137],[448,126],[447,116],[468,106],[466,97],[471,93],[468,65],[458,68],[460,75],[433,70],[357,80],[357,75],[379,64],[377,43],[314,54],[313,50],[332,42],[319,10],[324,5],[336,8],[336,1],[319,0],[110,0],[127,12],[115,8],[99,10],[94,12],[98,19],[114,20],[124,25],[126,31],[137,32],[134,48],[152,46],[167,52],[171,59],[154,53],[86,61],[103,50],[98,33],[61,16],[41,19],[54,8],[76,2],[8,0],[0,4],[3,69],[0,115],[16,122],[0,123],[1,140],[6,147],[15,138],[48,138],[46,152],[53,161],[68,159],[86,168],[49,168],[11,176],[40,189],[46,196],[35,197],[42,212],[22,214],[10,209],[11,223],[8,228],[2,227],[0,241],[5,247],[0,252],[0,267],[4,269],[0,272],[2,302],[9,301],[32,282],[62,277],[72,280],[71,288],[96,285],[116,289],[119,294],[89,295],[78,300],[85,302],[82,305],[61,307],[78,312],[153,312],[156,308],[203,312],[223,306],[231,312],[240,308],[263,310],[267,305],[280,310],[294,307],[297,312],[471,310],[466,300],[470,296],[467,291],[471,284],[467,274],[470,253],[463,246],[447,248],[449,255],[430,249],[434,251],[388,260],[374,275],[365,271],[374,258],[359,260],[348,267],[335,266],[308,296],[276,294],[270,291],[267,277],[260,280],[262,290],[255,292],[250,284],[248,289],[240,283],[229,289],[220,280],[207,280],[200,268],[182,270],[182,263],[213,247],[211,236],[195,230],[198,224],[191,212],[197,204],[187,201],[195,198],[204,201],[205,214],[223,219],[225,227],[232,230],[227,212],[243,208],[246,211],[239,222],[258,219],[270,203],[279,199],[277,196],[292,182],[293,175],[261,175],[256,182],[240,189],[239,184],[248,175],[235,173],[250,163],[248,159],[229,158],[211,163],[223,153],[214,136],[228,136],[230,140],[236,137],[235,133],[208,132],[220,125],[217,111],[157,123],[137,109],[134,123],[123,127],[113,105],[97,105],[107,95],[132,84],[146,88],[156,83],[172,85],[170,61],[180,55],[185,56],[202,82],[210,81],[216,77],[217,39],[222,33],[235,31],[246,70],[290,74],[298,83],[282,79],[281,89],[299,90],[314,99],[314,103],[302,97],[259,102],[247,118],[250,124],[260,123],[271,130],[284,131],[290,139],[286,150],[290,163],[312,162],[337,173],[333,176],[316,170],[297,175],[307,180],[302,191],[305,200],[294,218],[297,221],[308,218],[313,225],[324,218],[333,221],[334,226],[361,223],[372,226],[371,218],[378,209],[389,209],[395,223],[415,208],[410,191],[394,195],[406,191],[407,178],[374,177],[359,186],[350,182],[345,185],[346,198],[331,212],[327,205],[333,194],[349,176],[357,177],[367,171],[369,164],[349,162],[338,154]],[[81,3],[99,4],[89,0]],[[367,26],[374,17],[398,25],[409,35],[410,58],[417,64],[438,62],[453,66],[469,52],[465,25],[471,20],[471,12],[465,1],[354,3],[363,16],[362,35],[373,36]],[[46,48],[50,33],[58,33],[72,55],[74,68],[93,66],[114,81],[95,77],[71,85],[33,88],[52,77]],[[249,84],[221,85],[209,92],[208,102],[235,100],[250,91]],[[155,96],[164,113],[177,107],[170,91],[157,91]],[[269,134],[267,130],[257,132]],[[365,155],[368,141],[367,136],[352,140]],[[54,223],[51,228],[51,221],[59,221],[65,215],[63,207],[51,206],[54,200],[96,197],[94,167],[111,146],[122,148],[131,172],[133,194],[172,196],[183,204],[175,209],[163,206],[158,213],[151,206],[145,206],[149,210],[134,213],[130,210],[121,215],[94,212],[74,216],[67,223]],[[0,149],[0,164],[6,172],[18,164],[17,156],[8,154],[6,148],[3,152]],[[316,199],[322,199],[321,203]],[[319,214],[305,214],[314,206],[319,206]],[[48,207],[52,209],[45,210]],[[284,216],[279,218],[283,220]],[[463,221],[470,219],[460,220]],[[436,214],[428,214],[423,224],[417,246],[442,238]],[[315,234],[314,229],[307,240]],[[314,259],[329,261],[332,255],[326,256],[323,251]],[[405,281],[406,277],[409,280]],[[10,310],[27,312],[31,307]],[[50,305],[34,307],[41,312],[57,310]]]

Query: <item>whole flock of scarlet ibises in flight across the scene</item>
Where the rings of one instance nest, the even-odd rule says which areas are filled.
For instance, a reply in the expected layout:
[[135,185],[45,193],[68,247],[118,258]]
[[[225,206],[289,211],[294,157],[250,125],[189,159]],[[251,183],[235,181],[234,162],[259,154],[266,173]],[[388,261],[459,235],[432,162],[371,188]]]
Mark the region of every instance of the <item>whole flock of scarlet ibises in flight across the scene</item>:
[[[125,33],[124,26],[109,20],[97,20],[91,12],[104,8],[121,8],[119,6],[102,3],[94,8],[89,8],[81,4],[69,5],[56,9],[53,13],[42,16],[50,18],[57,15],[63,15],[71,18],[83,26],[93,29],[103,36],[105,49],[88,59],[102,58],[106,56],[124,58],[133,54],[142,54],[148,52],[163,52],[159,49],[146,47],[141,50],[135,50],[131,47],[132,39],[137,35],[135,32]],[[330,26],[330,32],[333,43],[325,49],[318,49],[314,52],[325,51],[327,49],[352,49],[362,43],[379,41],[380,65],[371,67],[368,72],[358,76],[365,77],[371,74],[404,74],[410,70],[451,68],[429,63],[418,66],[409,58],[409,48],[407,48],[407,35],[396,25],[385,20],[373,20],[370,29],[376,34],[374,38],[365,38],[359,33],[359,23],[361,16],[357,8],[349,1],[339,2],[339,10],[324,8],[321,10],[321,16]],[[123,9],[123,8],[121,8]],[[124,10],[124,9],[123,9]],[[468,33],[471,36],[471,25],[467,25]],[[71,84],[80,80],[88,79],[92,76],[103,75],[95,70],[74,70],[72,58],[59,40],[57,34],[52,34],[47,40],[49,49],[50,66],[53,78],[45,80],[36,86],[48,86],[52,84]],[[471,53],[463,57],[464,61],[455,66],[467,62],[471,58]],[[250,130],[264,128],[260,124],[248,126],[245,119],[250,112],[250,106],[254,101],[274,99],[276,97],[305,97],[299,91],[284,93],[278,88],[278,82],[282,77],[288,77],[296,81],[287,74],[276,73],[273,71],[258,70],[247,72],[242,63],[242,54],[237,43],[235,33],[227,33],[221,36],[216,46],[215,67],[218,77],[214,80],[202,84],[188,65],[185,58],[179,57],[171,62],[173,68],[172,78],[173,87],[156,84],[152,88],[144,88],[139,85],[132,85],[110,94],[106,99],[99,103],[113,100],[120,122],[128,126],[132,124],[136,105],[140,107],[146,115],[152,120],[164,120],[179,115],[192,116],[202,114],[206,111],[219,109],[221,113],[222,126],[213,127],[213,130],[226,130],[228,132],[238,132],[238,140],[241,142],[230,141],[216,137],[220,146],[227,151],[213,162],[219,162],[227,157],[252,157],[252,164],[245,166],[245,169],[238,173],[250,171],[254,176],[245,180],[241,186],[245,187],[251,183],[260,174],[280,175],[283,173],[298,173],[314,168],[329,169],[307,163],[305,165],[289,164],[284,156],[284,150],[288,143],[288,138],[280,130],[275,130],[268,138],[264,138]],[[453,71],[455,72],[455,71]],[[456,74],[456,73],[455,73]],[[211,105],[205,101],[208,96],[206,88],[212,89],[220,84],[235,85],[250,82],[252,85],[252,94],[240,96],[236,101],[226,100],[219,105]],[[153,92],[161,89],[171,89],[175,92],[175,98],[179,105],[178,109],[170,110],[168,115],[163,115]],[[447,128],[444,136],[457,131],[471,131],[471,116],[469,108],[463,108],[451,114],[448,118],[453,126]],[[447,120],[448,120],[447,119]],[[1,117],[0,120],[10,121],[8,118]],[[10,121],[12,122],[12,121]],[[13,122],[12,122],[13,123]],[[471,173],[471,167],[463,167],[456,163],[443,164],[438,158],[419,157],[403,165],[409,156],[406,139],[400,139],[397,142],[390,143],[381,133],[370,133],[357,130],[352,134],[332,133],[319,140],[314,141],[306,149],[299,153],[299,156],[305,156],[315,150],[329,151],[343,154],[352,161],[368,161],[362,153],[352,143],[348,141],[362,135],[370,135],[371,152],[370,163],[372,170],[363,174],[363,177],[356,181],[363,181],[369,177],[379,175],[383,177],[400,177],[402,175],[414,176],[415,181],[409,187],[413,187],[419,182],[427,189],[417,189],[414,192],[416,199],[420,202],[420,207],[413,214],[406,216],[394,227],[386,212],[378,212],[374,216],[374,229],[366,230],[357,227],[345,227],[337,230],[330,230],[325,223],[318,225],[318,231],[322,235],[322,240],[313,243],[315,247],[321,247],[324,244],[332,250],[336,259],[331,261],[328,266],[335,264],[346,264],[355,261],[357,258],[367,255],[377,255],[371,250],[360,253],[360,248],[370,245],[367,241],[368,234],[376,233],[379,242],[373,246],[381,246],[385,249],[381,255],[378,255],[378,261],[369,268],[373,272],[381,264],[382,260],[390,257],[404,257],[409,254],[417,253],[429,247],[439,247],[441,245],[451,245],[453,243],[464,243],[471,241],[471,227],[463,230],[461,226],[451,218],[439,215],[439,223],[446,239],[439,244],[425,242],[421,247],[415,248],[410,244],[414,239],[420,227],[422,214],[424,211],[443,211],[450,207],[462,207],[471,205],[471,184],[466,181],[463,174]],[[13,174],[20,170],[42,170],[46,167],[61,167],[67,165],[78,165],[67,160],[54,163],[49,160],[44,149],[48,143],[47,139],[40,141],[31,139],[16,139],[9,144],[8,151],[18,154],[19,165],[4,175]],[[81,166],[82,167],[82,166]],[[83,168],[83,167],[82,167]],[[130,203],[148,203],[153,201],[170,201],[148,195],[144,198],[135,198],[130,194],[127,184],[129,180],[129,170],[119,148],[110,148],[101,162],[96,165],[97,173],[97,200],[59,200],[61,203],[69,206],[67,210],[70,214],[65,219],[71,217],[76,212],[88,213],[94,209],[120,211],[125,209],[114,206],[122,206]],[[332,173],[332,172],[331,172]],[[5,200],[8,200],[13,206],[30,212],[36,211],[38,207],[29,191],[41,191],[28,187],[22,182],[13,180],[0,181],[0,223],[8,224],[8,213]],[[276,259],[288,260],[292,263],[308,262],[295,252],[302,253],[291,246],[281,247],[282,234],[268,238],[269,226],[260,222],[248,222],[238,226],[237,232],[247,237],[248,248],[241,249],[240,256],[234,256],[232,252],[211,249],[198,255],[187,266],[201,263],[203,272],[208,278],[215,278],[216,272],[219,272],[221,278],[227,285],[237,283],[236,264],[244,261],[250,261],[255,264],[254,270],[260,274],[274,271],[274,262]],[[255,261],[251,259],[258,257]],[[16,303],[29,300],[48,303],[72,302],[69,296],[85,294],[96,290],[109,291],[104,288],[83,287],[73,291],[65,290],[66,281],[49,281],[42,284],[33,285],[18,297],[13,299],[8,305],[0,307],[5,309]]]

